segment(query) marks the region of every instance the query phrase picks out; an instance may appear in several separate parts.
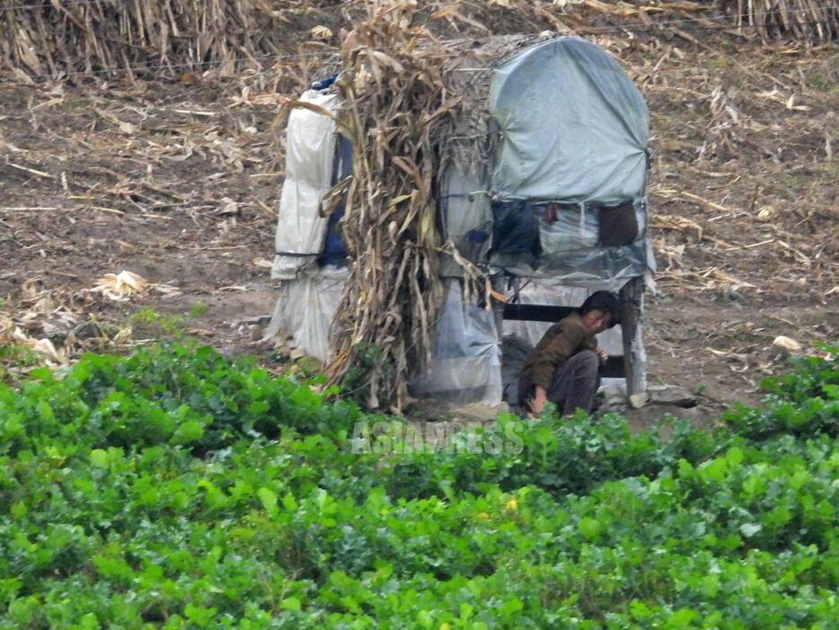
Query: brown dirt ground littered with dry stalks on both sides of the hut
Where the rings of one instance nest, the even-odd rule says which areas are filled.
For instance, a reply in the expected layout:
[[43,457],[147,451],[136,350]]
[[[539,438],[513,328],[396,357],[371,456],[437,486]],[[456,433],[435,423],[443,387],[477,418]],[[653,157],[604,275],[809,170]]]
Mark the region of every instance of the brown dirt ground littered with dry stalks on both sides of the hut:
[[[837,340],[839,49],[663,32],[596,38],[651,115],[649,381],[755,402],[786,365],[777,335]],[[265,77],[245,83],[0,84],[0,340],[11,322],[52,344],[7,348],[7,367],[178,327],[286,365],[254,319],[275,300],[278,99]],[[152,286],[91,290],[123,270]]]

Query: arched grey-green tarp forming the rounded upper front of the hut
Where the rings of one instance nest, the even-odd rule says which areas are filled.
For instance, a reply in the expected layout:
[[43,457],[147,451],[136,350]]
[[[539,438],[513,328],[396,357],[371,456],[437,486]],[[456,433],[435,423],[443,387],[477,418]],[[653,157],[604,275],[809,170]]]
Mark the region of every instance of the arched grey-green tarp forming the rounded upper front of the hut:
[[499,66],[491,189],[501,199],[603,201],[643,195],[649,116],[631,78],[578,38],[548,40]]

